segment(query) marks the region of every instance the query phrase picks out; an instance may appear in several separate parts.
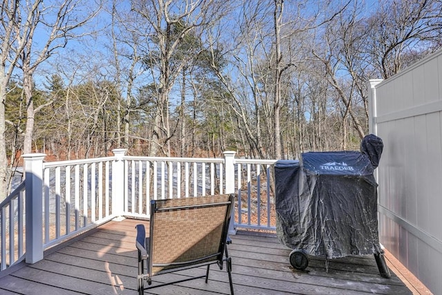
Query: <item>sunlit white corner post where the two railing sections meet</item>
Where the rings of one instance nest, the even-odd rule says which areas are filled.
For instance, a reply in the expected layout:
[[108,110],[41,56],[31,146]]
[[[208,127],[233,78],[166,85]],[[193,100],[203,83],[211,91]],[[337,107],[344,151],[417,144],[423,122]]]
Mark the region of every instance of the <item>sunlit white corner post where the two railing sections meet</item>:
[[124,215],[124,155],[126,149],[113,149],[115,161],[112,162],[112,214],[115,216]]

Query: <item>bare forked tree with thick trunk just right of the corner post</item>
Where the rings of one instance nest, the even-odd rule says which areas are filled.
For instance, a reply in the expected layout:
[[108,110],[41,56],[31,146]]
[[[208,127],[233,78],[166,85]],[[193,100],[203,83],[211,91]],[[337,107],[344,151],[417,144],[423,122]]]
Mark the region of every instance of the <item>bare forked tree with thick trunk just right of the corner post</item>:
[[[180,45],[191,32],[201,36],[210,23],[225,11],[228,1],[133,1],[133,11],[140,14],[148,26],[150,50],[145,64],[151,70],[155,86],[155,122],[151,142],[151,155],[159,151],[170,155],[171,128],[169,126],[170,95],[184,66],[194,58],[194,52],[180,52]],[[140,24],[142,26],[142,24]]]

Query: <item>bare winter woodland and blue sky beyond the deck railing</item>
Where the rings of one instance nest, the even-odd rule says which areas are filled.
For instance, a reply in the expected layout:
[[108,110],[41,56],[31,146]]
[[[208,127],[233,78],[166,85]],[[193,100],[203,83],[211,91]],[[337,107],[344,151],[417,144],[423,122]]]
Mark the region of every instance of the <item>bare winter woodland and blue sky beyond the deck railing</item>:
[[0,13],[0,196],[30,152],[358,150],[369,79],[442,46],[442,0],[3,0]]

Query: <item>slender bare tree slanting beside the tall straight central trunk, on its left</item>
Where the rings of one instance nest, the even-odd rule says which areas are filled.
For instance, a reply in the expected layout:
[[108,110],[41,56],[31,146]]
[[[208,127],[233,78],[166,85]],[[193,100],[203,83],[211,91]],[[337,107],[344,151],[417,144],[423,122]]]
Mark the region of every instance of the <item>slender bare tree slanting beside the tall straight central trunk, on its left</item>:
[[[263,26],[269,20],[267,15],[271,14],[271,10],[266,2],[244,1],[240,11],[242,13],[234,26],[237,31],[224,27],[215,30],[218,34],[229,31],[234,44],[220,44],[215,42],[220,40],[220,36],[213,37],[212,68],[229,93],[218,98],[223,98],[223,102],[236,114],[238,123],[234,125],[240,126],[236,140],[243,149],[247,142],[249,148],[244,149],[244,153],[265,158],[269,151],[263,147],[261,115],[264,113],[265,117],[271,117],[271,111],[262,86],[267,84],[270,75],[265,52],[267,44],[271,43],[271,33]],[[224,48],[225,52],[220,53],[218,48]],[[230,59],[236,69],[234,74],[223,68],[221,59]]]

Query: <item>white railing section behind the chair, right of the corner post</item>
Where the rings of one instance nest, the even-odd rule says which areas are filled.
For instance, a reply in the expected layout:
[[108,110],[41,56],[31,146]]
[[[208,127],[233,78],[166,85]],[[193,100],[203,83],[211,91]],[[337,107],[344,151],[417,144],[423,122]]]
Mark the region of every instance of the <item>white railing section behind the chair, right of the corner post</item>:
[[[124,214],[145,217],[150,200],[223,193],[224,159],[124,157]],[[151,179],[155,180],[151,182]]]

